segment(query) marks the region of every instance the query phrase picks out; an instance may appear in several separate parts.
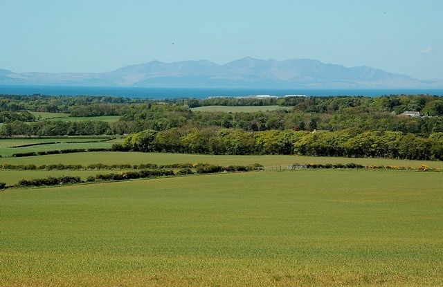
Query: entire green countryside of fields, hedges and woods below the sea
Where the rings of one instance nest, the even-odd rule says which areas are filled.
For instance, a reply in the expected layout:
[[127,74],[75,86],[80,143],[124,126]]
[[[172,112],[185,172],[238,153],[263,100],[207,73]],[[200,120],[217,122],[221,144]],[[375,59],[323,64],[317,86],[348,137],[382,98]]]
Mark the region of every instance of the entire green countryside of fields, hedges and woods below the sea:
[[2,100],[0,286],[443,284],[440,97]]

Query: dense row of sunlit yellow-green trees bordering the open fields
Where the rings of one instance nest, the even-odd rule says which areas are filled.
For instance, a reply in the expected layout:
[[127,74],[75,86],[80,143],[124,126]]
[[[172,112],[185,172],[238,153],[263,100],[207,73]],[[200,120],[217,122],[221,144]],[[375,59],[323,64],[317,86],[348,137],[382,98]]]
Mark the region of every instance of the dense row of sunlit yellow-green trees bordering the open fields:
[[[118,148],[115,148],[118,149]],[[120,150],[186,154],[298,154],[350,158],[442,160],[443,133],[422,138],[395,131],[244,131],[242,129],[146,130],[127,136]]]

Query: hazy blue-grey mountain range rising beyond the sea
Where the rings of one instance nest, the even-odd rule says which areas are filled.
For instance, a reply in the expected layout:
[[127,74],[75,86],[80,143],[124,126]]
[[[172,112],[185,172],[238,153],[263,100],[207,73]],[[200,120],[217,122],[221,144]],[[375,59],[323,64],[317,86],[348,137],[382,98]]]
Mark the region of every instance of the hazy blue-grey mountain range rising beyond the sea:
[[219,65],[206,60],[148,62],[107,73],[14,73],[0,69],[0,84],[227,88],[386,89],[442,88],[443,81],[314,59],[253,59]]

